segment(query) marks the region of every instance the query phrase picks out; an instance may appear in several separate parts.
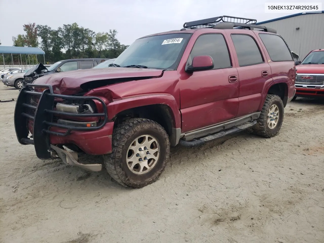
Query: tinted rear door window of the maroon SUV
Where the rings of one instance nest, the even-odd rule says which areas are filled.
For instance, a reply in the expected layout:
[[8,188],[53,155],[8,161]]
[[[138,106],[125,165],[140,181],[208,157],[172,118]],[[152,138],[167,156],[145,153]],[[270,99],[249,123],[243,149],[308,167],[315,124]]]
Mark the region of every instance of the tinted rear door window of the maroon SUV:
[[260,49],[252,36],[232,34],[231,37],[240,67],[264,62]]

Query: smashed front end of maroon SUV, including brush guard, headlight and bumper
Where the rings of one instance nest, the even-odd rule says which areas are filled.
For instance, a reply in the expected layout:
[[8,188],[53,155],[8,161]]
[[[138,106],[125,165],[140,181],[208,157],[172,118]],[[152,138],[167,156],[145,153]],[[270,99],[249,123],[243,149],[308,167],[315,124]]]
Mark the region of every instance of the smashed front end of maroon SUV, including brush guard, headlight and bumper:
[[81,164],[77,154],[63,145],[80,142],[81,150],[89,154],[110,152],[108,130],[113,123],[109,124],[107,106],[99,97],[60,95],[51,85],[27,84],[17,98],[14,123],[19,143],[34,145],[40,159],[60,157],[67,165],[100,171],[101,164]]

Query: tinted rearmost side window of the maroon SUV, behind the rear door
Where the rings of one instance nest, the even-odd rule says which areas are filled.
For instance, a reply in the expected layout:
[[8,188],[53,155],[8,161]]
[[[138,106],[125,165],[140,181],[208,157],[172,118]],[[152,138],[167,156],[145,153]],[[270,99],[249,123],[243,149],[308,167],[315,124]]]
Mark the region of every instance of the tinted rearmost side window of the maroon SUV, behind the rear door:
[[291,52],[284,40],[278,35],[259,34],[272,62],[293,61]]

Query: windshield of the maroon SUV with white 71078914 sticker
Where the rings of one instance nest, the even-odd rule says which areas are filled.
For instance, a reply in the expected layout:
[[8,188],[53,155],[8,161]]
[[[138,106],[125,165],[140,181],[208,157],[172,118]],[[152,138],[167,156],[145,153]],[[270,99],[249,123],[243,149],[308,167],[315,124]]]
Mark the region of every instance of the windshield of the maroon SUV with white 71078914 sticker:
[[187,33],[176,33],[138,39],[113,63],[121,67],[143,65],[148,68],[175,70],[190,36]]

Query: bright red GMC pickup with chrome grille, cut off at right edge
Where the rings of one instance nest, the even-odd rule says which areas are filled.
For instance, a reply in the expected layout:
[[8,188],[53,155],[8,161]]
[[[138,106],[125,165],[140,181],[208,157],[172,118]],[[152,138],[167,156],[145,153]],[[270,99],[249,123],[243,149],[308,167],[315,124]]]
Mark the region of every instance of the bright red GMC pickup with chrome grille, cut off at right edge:
[[313,50],[302,62],[296,61],[297,97],[324,97],[324,49]]

